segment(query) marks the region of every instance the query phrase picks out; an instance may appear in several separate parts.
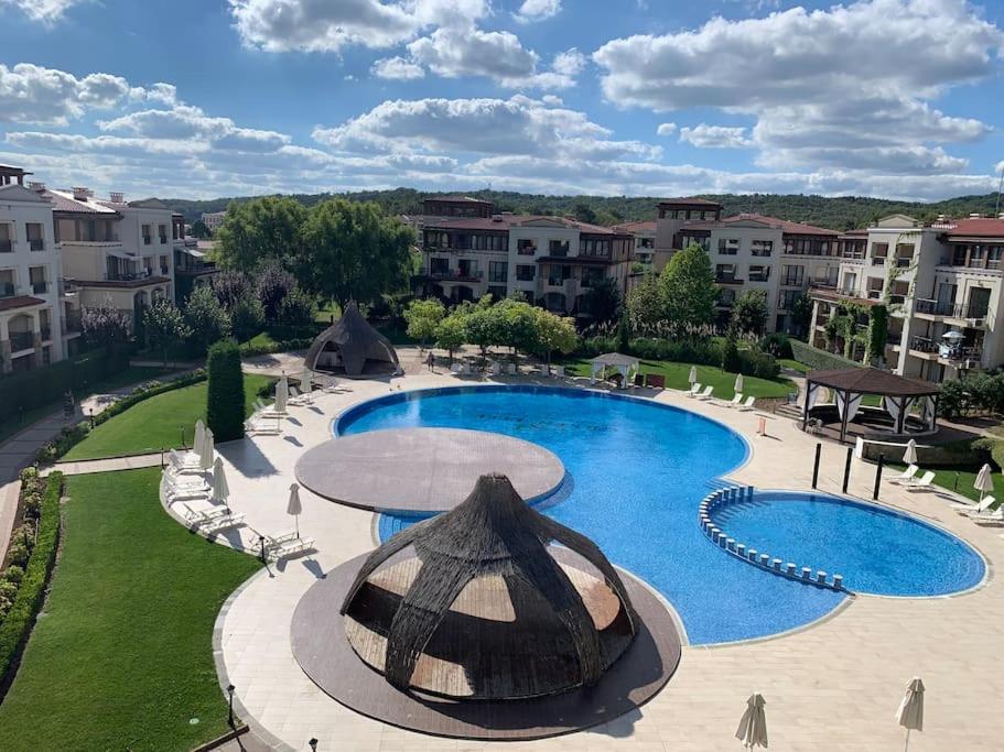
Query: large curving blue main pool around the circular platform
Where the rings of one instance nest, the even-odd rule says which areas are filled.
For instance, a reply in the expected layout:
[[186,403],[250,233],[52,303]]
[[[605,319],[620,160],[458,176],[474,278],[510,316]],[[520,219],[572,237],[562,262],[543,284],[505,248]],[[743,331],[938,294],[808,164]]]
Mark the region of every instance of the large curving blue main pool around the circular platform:
[[[404,426],[493,431],[558,455],[565,483],[542,511],[659,590],[692,644],[802,626],[845,598],[752,567],[704,537],[701,499],[747,456],[745,442],[714,421],[603,392],[467,386],[379,397],[346,412],[336,433]],[[413,521],[385,516],[381,536]]]

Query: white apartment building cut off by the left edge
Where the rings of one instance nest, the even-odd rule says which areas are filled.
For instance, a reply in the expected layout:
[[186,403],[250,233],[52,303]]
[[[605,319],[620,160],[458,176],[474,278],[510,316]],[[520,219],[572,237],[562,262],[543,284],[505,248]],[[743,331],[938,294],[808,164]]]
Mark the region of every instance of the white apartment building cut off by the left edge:
[[30,174],[0,165],[0,373],[60,360],[79,336],[61,295],[52,205],[24,185]]

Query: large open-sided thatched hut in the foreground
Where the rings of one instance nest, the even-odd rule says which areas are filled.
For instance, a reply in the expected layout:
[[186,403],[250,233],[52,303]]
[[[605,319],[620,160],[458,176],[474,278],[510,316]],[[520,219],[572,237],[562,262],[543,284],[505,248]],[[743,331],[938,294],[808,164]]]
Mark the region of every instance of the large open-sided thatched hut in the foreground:
[[[575,554],[573,566],[552,557],[551,542]],[[639,626],[600,548],[498,475],[376,549],[342,613],[357,655],[390,684],[471,699],[592,686]]]

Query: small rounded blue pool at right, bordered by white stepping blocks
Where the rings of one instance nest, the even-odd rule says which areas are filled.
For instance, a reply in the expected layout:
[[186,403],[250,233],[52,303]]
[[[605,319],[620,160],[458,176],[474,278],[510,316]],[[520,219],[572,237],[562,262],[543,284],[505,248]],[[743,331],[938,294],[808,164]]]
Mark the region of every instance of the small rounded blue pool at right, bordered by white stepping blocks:
[[843,575],[849,590],[943,596],[979,585],[983,558],[954,535],[885,506],[824,493],[757,491],[711,515],[728,537]]

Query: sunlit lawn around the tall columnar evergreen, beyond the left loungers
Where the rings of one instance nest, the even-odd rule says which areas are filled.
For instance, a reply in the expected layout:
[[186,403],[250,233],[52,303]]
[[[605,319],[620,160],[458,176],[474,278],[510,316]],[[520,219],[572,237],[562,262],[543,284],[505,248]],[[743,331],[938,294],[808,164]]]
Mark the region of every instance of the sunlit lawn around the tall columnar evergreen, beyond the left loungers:
[[[251,403],[258,390],[273,380],[245,374],[245,408],[251,414]],[[116,455],[138,455],[160,451],[192,442],[195,422],[206,419],[207,382],[158,394],[133,405],[120,415],[97,426],[87,438],[73,447],[64,459],[97,459]]]

